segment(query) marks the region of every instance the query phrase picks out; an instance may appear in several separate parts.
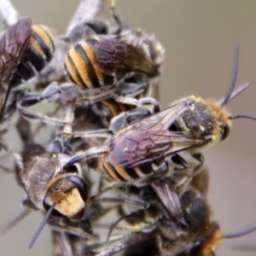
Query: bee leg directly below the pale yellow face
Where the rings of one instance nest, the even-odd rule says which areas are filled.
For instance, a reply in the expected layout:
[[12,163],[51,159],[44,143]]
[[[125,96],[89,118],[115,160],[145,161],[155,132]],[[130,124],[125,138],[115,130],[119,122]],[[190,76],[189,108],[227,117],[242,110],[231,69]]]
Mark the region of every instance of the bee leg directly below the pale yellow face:
[[48,224],[50,228],[55,231],[65,231],[68,234],[84,239],[98,240],[98,236],[92,234],[90,221],[88,219],[71,220],[69,218],[51,218]]

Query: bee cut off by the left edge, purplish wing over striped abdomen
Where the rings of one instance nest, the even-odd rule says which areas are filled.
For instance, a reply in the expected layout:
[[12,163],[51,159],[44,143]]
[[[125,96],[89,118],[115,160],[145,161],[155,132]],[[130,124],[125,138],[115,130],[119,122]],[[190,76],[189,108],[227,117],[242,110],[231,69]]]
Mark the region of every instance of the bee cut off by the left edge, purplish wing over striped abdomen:
[[[13,88],[36,76],[55,52],[55,37],[47,26],[29,17],[10,26],[0,39],[1,118]],[[7,89],[4,84],[7,84]]]

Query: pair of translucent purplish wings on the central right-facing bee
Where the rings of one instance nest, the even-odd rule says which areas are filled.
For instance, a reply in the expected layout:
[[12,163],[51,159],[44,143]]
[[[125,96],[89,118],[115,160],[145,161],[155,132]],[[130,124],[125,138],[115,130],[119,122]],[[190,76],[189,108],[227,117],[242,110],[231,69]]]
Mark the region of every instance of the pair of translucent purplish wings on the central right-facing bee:
[[203,138],[186,137],[182,132],[170,130],[188,106],[188,101],[177,102],[116,132],[109,142],[112,149],[109,163],[123,168],[137,167],[206,143]]

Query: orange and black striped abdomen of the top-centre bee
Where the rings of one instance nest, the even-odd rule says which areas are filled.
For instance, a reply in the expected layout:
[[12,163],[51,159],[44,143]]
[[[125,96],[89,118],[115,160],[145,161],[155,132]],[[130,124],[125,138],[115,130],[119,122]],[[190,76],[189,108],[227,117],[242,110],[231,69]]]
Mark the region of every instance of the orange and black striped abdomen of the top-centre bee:
[[113,76],[102,72],[96,60],[91,42],[81,42],[67,52],[65,67],[74,84],[88,88],[99,88],[113,84]]

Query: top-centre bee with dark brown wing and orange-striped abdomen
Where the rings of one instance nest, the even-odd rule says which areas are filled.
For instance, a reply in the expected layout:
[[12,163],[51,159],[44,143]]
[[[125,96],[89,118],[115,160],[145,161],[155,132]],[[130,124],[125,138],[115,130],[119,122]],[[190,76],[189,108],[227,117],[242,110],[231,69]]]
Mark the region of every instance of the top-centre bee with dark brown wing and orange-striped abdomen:
[[133,79],[135,82],[125,77],[139,73],[152,79],[159,77],[162,72],[164,49],[154,35],[139,30],[122,32],[122,22],[113,4],[112,11],[118,29],[108,34],[107,27],[99,21],[85,23],[99,36],[80,41],[69,49],[65,58],[67,76],[74,84],[86,90],[113,84],[118,88],[118,92],[110,90],[106,96],[102,96],[101,90],[94,90],[99,95],[88,97],[93,102],[102,101],[102,97],[113,97],[111,94],[139,95],[141,90],[146,92],[148,84],[140,84],[140,78],[135,79],[138,75]]

